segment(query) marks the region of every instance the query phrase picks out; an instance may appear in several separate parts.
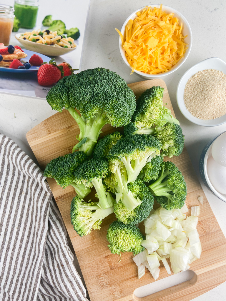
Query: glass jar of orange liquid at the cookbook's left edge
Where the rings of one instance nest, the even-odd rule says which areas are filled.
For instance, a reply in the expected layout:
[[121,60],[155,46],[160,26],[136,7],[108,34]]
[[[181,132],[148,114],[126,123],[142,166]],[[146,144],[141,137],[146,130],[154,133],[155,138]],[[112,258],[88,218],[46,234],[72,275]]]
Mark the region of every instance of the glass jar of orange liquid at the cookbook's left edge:
[[13,31],[14,8],[9,5],[0,4],[0,43],[9,45]]

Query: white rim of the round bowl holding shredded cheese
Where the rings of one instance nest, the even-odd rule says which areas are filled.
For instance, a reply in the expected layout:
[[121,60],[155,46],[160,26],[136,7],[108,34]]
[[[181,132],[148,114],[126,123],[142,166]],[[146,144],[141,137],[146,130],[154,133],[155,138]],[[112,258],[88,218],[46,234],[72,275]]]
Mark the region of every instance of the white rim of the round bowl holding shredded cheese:
[[[143,8],[147,7],[147,6],[151,6],[151,7],[160,7],[160,4],[149,4],[149,5],[145,5],[139,9],[137,9],[136,11],[134,11],[132,14],[129,15],[129,17],[125,20],[125,22],[123,23],[122,25],[122,28],[121,28],[121,33],[124,32],[124,28],[127,24],[127,22],[131,19],[131,16],[135,13],[137,13],[138,11],[141,11]],[[176,9],[168,6],[168,5],[162,5],[162,9],[164,10],[164,8],[166,8],[167,10],[173,10],[173,12],[175,12],[176,14],[178,14],[179,16],[181,16],[183,18],[183,23],[186,23],[187,25],[187,28],[188,28],[188,31],[189,31],[189,35],[190,35],[190,43],[189,43],[189,46],[188,46],[188,49],[186,50],[185,52],[185,55],[184,55],[184,59],[180,62],[179,61],[179,64],[177,67],[175,67],[173,70],[170,70],[170,71],[167,71],[167,72],[163,72],[163,73],[159,73],[159,74],[148,74],[148,73],[144,73],[142,71],[137,71],[134,69],[134,72],[139,74],[140,76],[145,76],[146,78],[150,78],[150,79],[153,79],[153,78],[159,78],[159,77],[162,77],[162,76],[166,76],[166,75],[169,75],[171,74],[172,72],[176,71],[186,60],[187,60],[187,57],[191,51],[191,47],[192,47],[192,32],[191,32],[191,27],[187,21],[187,19],[184,17],[184,15],[182,15],[179,11],[177,11]],[[132,70],[132,67],[130,66],[130,64],[128,63],[126,57],[125,57],[125,54],[124,54],[124,50],[122,49],[122,42],[121,42],[121,38],[119,36],[119,51],[120,51],[120,54],[121,54],[121,57],[123,58],[124,62],[127,64],[128,67],[130,67],[130,69]]]

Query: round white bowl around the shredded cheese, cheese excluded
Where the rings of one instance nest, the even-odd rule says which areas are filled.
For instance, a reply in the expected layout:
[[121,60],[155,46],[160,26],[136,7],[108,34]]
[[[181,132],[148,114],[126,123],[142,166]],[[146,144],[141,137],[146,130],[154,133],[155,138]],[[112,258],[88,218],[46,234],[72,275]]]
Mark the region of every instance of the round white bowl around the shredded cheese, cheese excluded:
[[[149,5],[146,5],[146,6],[151,6],[152,8],[156,7],[156,8],[159,8],[160,7],[160,4],[149,4]],[[134,11],[124,22],[122,28],[121,28],[121,33],[124,35],[124,32],[125,32],[125,27],[128,23],[128,21],[130,19],[134,20],[136,17],[137,17],[137,12],[138,11],[141,11],[143,10],[146,6],[143,6],[139,9],[137,9],[136,11]],[[159,74],[148,74],[148,73],[144,73],[144,72],[141,72],[141,71],[137,71],[137,70],[134,70],[135,73],[137,73],[137,75],[139,75],[140,77],[142,77],[143,79],[153,79],[153,78],[159,78],[159,77],[162,77],[162,76],[165,76],[165,75],[169,75],[171,74],[172,72],[174,72],[175,70],[177,70],[182,64],[184,64],[184,62],[186,61],[189,53],[190,53],[190,50],[191,50],[191,45],[192,45],[192,33],[191,33],[191,28],[190,28],[190,25],[188,24],[187,20],[185,19],[185,17],[177,10],[175,10],[174,8],[171,8],[170,6],[167,6],[167,5],[162,5],[162,11],[166,11],[167,13],[174,13],[174,17],[177,17],[179,19],[179,22],[182,22],[183,23],[183,35],[187,37],[184,38],[184,42],[186,44],[188,44],[188,49],[186,50],[185,54],[184,54],[184,57],[182,57],[180,59],[180,61],[175,64],[169,71],[167,72],[163,72],[163,73],[159,73]],[[130,64],[128,63],[127,61],[127,58],[126,58],[126,55],[125,55],[125,50],[122,46],[122,42],[121,42],[121,38],[119,37],[119,50],[120,50],[120,53],[121,53],[121,56],[124,60],[124,62],[127,64],[128,67],[130,67],[130,69],[132,70],[132,67],[130,66]]]

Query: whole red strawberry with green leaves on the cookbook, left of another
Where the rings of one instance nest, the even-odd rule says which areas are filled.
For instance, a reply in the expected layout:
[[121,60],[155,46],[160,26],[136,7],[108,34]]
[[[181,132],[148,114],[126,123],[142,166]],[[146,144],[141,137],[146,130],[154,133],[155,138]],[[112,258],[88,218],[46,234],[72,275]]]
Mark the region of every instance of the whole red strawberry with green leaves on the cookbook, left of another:
[[63,67],[57,66],[54,58],[48,63],[43,63],[38,70],[38,83],[41,86],[50,86],[58,82],[64,74]]

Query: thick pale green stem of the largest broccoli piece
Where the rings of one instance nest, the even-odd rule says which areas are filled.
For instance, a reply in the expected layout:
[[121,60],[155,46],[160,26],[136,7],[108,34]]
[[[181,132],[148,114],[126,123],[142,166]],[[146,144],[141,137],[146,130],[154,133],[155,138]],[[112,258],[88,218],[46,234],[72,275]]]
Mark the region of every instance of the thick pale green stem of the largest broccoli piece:
[[[86,142],[79,147],[79,151],[83,151],[87,156],[90,156],[97,143],[102,127],[106,123],[109,123],[110,120],[103,113],[96,113],[93,118],[86,120],[83,119],[74,108],[70,107],[67,110],[79,126],[80,134],[78,140],[81,141],[86,138]],[[76,145],[73,147],[73,152],[75,151],[75,148]]]

